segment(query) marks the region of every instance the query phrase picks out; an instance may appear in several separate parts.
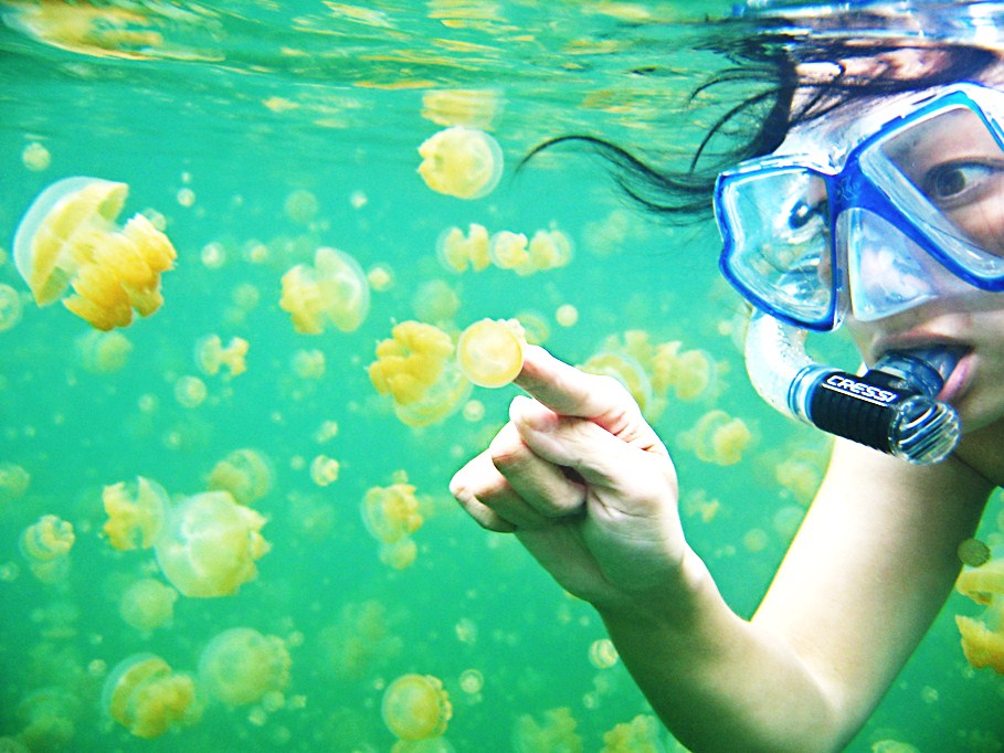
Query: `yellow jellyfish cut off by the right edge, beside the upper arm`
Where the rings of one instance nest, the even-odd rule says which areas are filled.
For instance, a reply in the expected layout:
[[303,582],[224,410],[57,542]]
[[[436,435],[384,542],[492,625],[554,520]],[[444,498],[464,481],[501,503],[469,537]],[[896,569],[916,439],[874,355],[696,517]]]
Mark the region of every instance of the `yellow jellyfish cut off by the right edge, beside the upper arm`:
[[986,607],[979,619],[955,616],[966,660],[976,669],[991,667],[1004,675],[1004,558],[964,570],[955,590]]

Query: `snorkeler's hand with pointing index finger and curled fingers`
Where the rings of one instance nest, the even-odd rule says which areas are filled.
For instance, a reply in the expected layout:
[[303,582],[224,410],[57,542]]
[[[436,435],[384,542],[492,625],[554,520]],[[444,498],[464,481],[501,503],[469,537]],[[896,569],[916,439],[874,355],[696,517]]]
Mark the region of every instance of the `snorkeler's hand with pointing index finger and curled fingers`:
[[509,423],[450,490],[515,532],[570,593],[602,608],[668,595],[687,552],[666,447],[616,380],[527,349]]

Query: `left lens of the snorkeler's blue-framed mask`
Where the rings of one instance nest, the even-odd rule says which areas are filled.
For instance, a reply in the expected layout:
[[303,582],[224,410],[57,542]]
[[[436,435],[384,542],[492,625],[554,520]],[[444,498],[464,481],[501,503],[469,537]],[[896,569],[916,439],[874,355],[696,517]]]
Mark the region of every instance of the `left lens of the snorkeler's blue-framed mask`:
[[772,314],[829,327],[831,223],[820,174],[783,168],[733,178],[722,188],[719,221],[731,238],[723,267],[742,293]]

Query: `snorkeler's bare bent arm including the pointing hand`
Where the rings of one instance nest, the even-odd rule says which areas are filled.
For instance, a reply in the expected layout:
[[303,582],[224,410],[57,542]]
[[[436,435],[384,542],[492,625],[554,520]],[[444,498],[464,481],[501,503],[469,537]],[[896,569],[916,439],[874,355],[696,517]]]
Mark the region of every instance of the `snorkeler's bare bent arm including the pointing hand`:
[[[665,446],[615,381],[528,353],[510,422],[451,490],[601,614],[655,711],[695,751],[839,750],[916,648],[993,488],[839,443],[755,616],[689,549]],[[778,713],[784,709],[784,713]]]

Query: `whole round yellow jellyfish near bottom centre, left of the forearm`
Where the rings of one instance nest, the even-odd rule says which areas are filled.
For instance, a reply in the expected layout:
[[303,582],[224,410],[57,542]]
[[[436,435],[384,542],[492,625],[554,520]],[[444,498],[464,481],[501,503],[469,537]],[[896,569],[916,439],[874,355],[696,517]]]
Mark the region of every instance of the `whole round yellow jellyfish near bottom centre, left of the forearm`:
[[383,723],[402,740],[437,738],[446,731],[453,707],[443,683],[432,675],[402,675],[383,691]]

